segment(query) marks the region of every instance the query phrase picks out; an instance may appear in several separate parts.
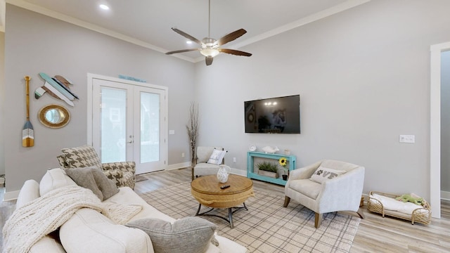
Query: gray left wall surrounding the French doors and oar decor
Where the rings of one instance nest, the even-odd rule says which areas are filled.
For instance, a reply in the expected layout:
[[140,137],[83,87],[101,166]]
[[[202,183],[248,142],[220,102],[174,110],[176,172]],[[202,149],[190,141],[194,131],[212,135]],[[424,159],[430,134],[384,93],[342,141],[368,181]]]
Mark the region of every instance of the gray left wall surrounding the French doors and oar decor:
[[[117,77],[126,74],[146,79],[149,84],[169,89],[169,164],[189,162],[185,134],[188,106],[193,100],[194,65],[141,46],[113,39],[22,8],[6,5],[6,98],[8,119],[4,129],[6,190],[19,190],[26,179],[40,180],[46,169],[58,167],[61,148],[86,144],[87,73]],[[25,123],[25,81],[30,75],[30,92],[44,84],[39,72],[61,74],[75,83],[72,91],[79,101],[65,105],[49,95],[39,100],[30,96],[30,115],[34,126],[34,147],[23,148],[21,131]],[[56,103],[70,111],[72,119],[62,129],[49,129],[39,123],[37,112]]]

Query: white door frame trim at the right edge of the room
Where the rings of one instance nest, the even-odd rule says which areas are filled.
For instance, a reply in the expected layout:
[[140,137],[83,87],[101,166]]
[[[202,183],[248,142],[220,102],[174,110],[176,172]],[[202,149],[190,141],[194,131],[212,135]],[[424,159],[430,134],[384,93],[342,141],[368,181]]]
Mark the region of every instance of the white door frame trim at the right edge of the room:
[[430,46],[430,205],[441,218],[441,53],[450,42]]

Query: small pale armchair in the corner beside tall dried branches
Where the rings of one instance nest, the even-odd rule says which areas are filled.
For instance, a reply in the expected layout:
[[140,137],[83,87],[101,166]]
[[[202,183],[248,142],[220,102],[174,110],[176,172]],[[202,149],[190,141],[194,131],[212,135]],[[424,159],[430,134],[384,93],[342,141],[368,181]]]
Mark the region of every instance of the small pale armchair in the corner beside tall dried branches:
[[[214,150],[221,151],[222,153],[219,154],[221,157],[217,157],[217,162],[213,163],[210,158]],[[196,157],[192,164],[192,180],[194,180],[197,176],[217,174],[217,171],[219,171],[219,165],[225,164],[225,153],[226,151],[222,147],[198,146]]]

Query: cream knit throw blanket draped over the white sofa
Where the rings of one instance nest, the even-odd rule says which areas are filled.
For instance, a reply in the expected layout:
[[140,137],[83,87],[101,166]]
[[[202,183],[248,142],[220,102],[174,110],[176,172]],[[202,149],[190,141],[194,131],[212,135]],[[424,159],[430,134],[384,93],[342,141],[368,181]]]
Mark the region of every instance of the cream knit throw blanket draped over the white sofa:
[[34,243],[82,208],[95,209],[119,224],[142,209],[139,205],[102,203],[91,190],[79,186],[57,188],[13,212],[3,228],[4,252],[29,252]]

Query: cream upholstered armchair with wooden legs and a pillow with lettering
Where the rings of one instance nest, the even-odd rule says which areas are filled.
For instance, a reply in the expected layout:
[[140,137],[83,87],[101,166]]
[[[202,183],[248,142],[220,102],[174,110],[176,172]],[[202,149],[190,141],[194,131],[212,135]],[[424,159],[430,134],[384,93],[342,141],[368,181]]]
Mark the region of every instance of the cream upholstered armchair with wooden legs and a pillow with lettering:
[[[320,169],[319,169],[320,168]],[[348,162],[323,160],[290,171],[285,185],[284,207],[290,199],[316,212],[314,226],[319,228],[322,214],[359,211],[364,185],[364,167]]]

